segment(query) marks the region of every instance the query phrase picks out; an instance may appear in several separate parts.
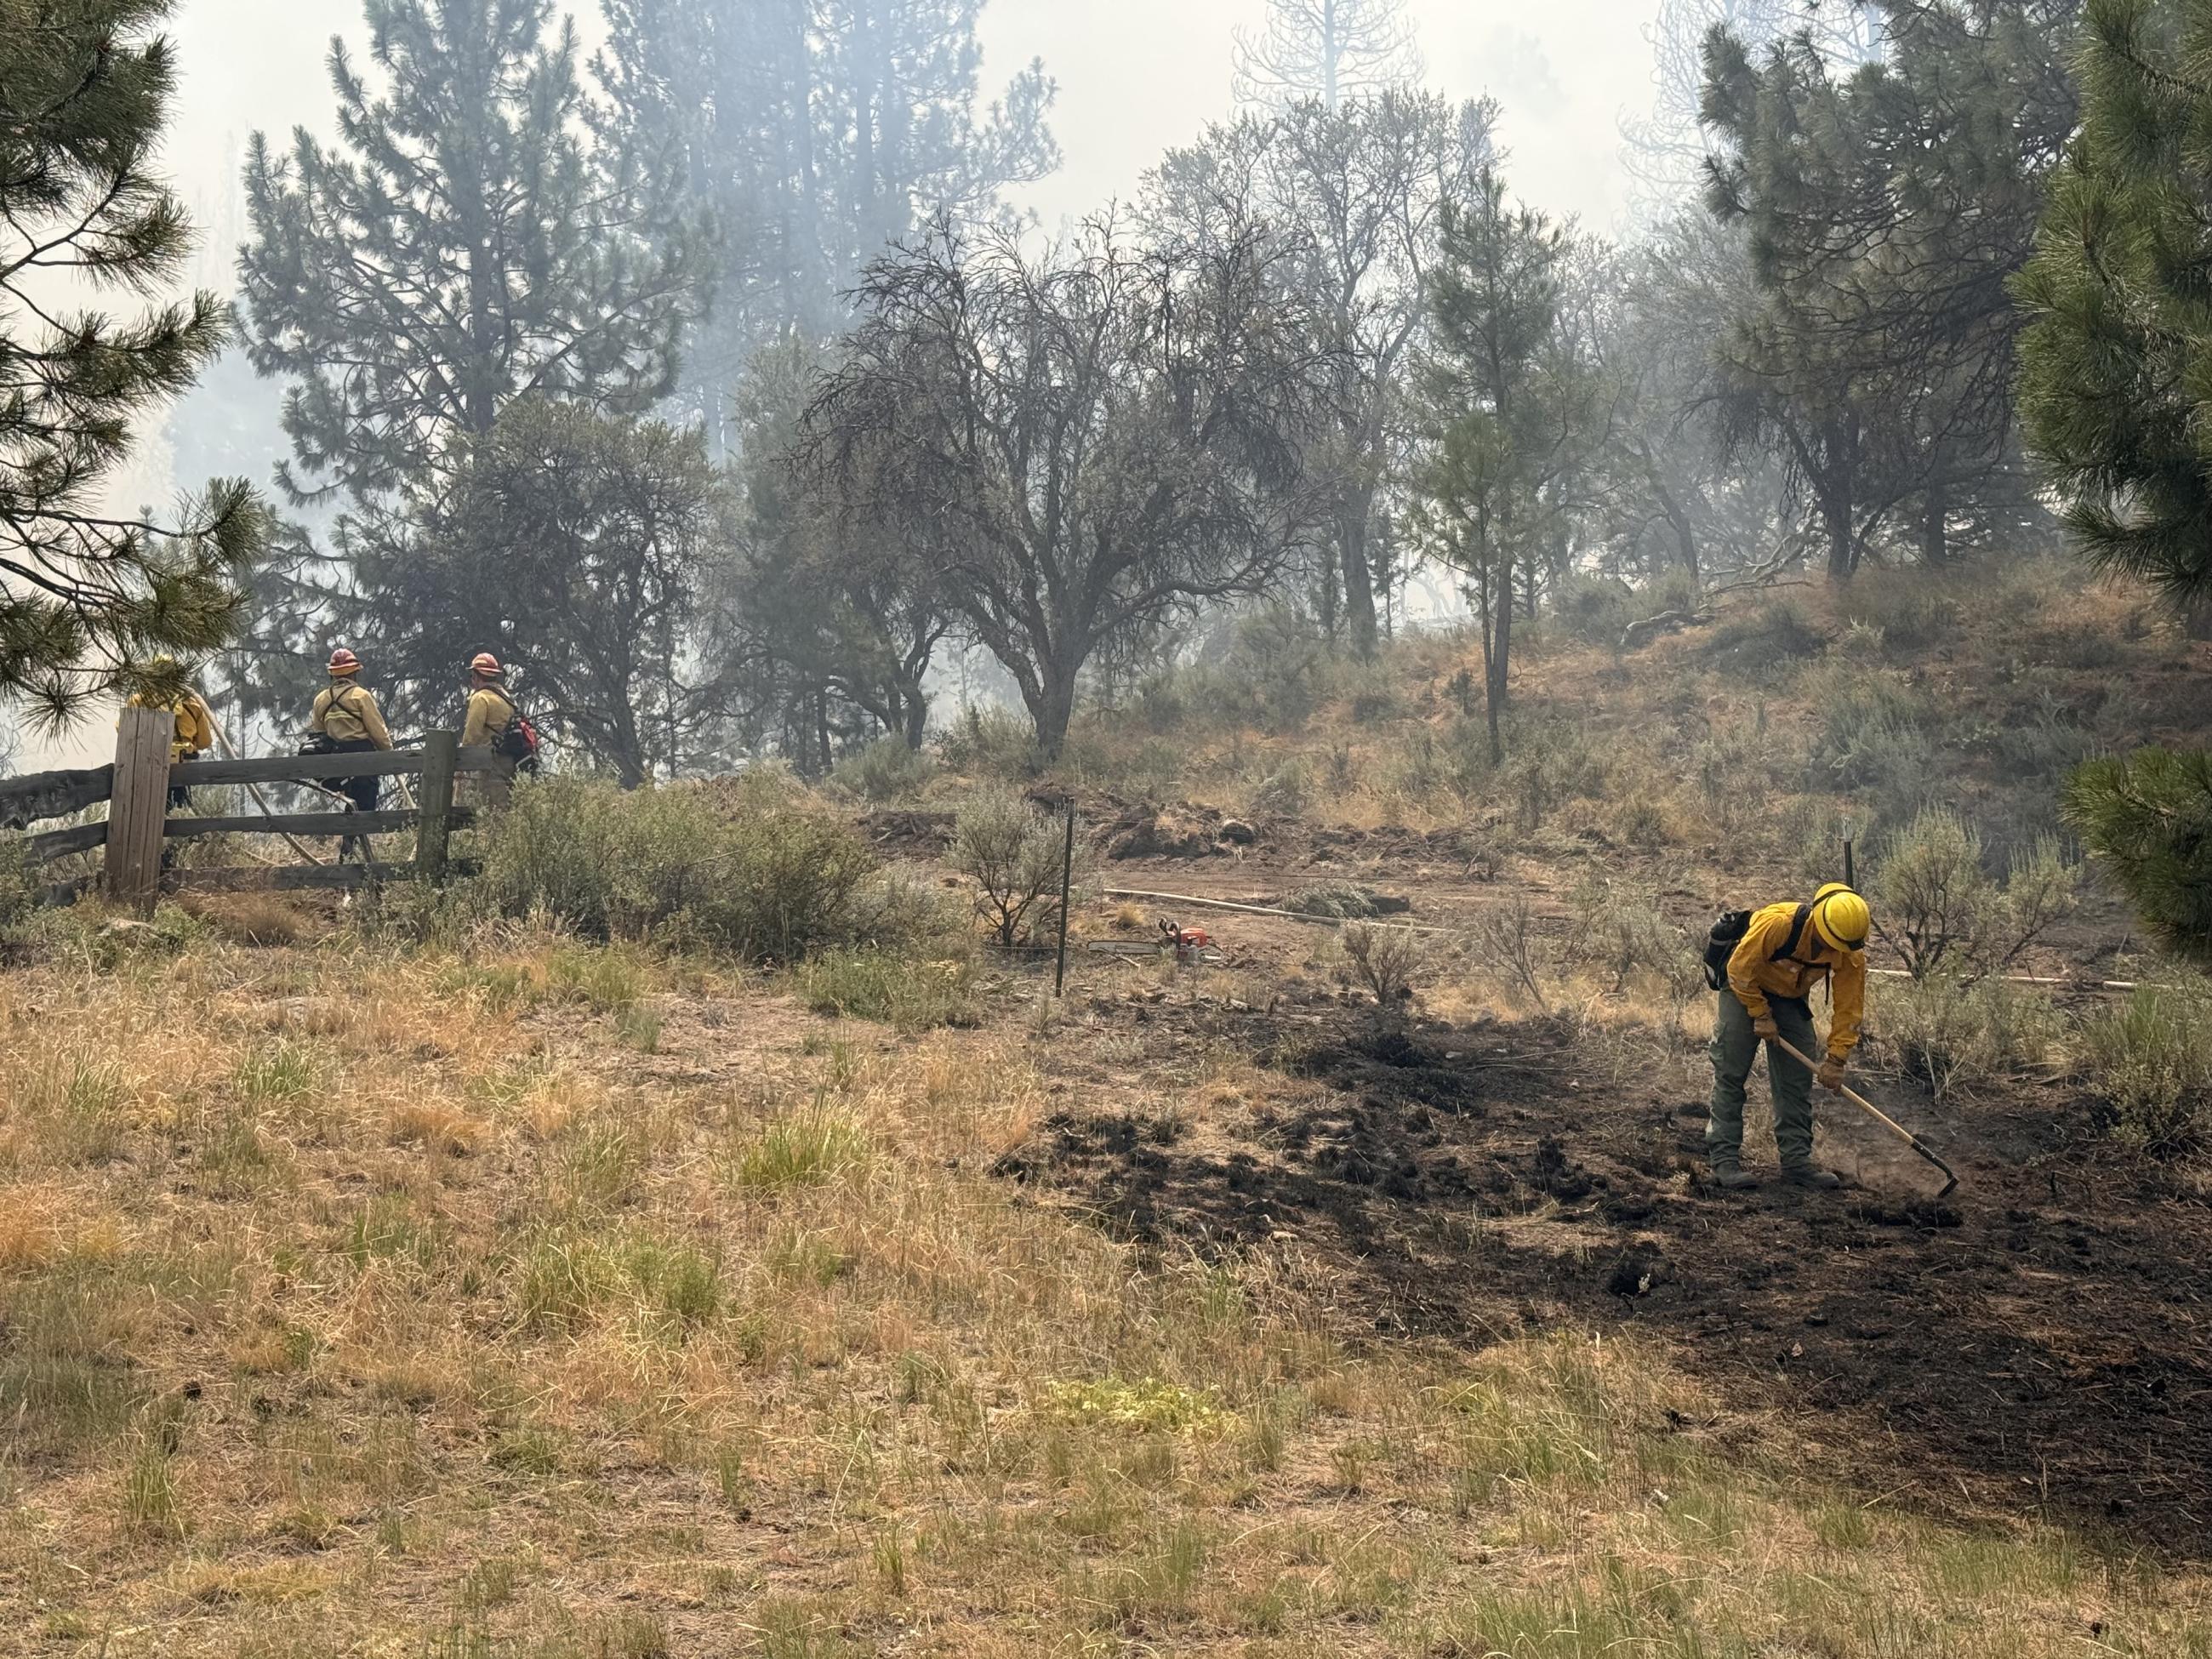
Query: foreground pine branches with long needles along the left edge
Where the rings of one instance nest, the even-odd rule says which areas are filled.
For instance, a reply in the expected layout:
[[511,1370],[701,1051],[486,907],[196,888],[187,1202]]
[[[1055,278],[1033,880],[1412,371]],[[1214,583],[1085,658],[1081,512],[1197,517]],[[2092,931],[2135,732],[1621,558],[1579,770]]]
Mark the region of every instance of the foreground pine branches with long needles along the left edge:
[[0,701],[46,723],[124,688],[175,690],[161,655],[221,646],[268,540],[243,480],[173,522],[102,511],[131,422],[192,385],[228,334],[215,294],[137,316],[192,228],[153,170],[175,91],[168,0],[0,0]]

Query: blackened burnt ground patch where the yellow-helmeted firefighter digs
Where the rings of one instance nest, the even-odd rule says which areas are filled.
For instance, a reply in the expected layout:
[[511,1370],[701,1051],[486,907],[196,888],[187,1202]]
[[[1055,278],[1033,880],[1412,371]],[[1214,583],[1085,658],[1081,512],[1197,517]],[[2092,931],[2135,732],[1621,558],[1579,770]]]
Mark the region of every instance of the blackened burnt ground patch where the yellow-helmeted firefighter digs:
[[[2212,1214],[2106,1159],[2077,1102],[1944,1121],[1964,1177],[1944,1206],[1836,1113],[1851,1190],[1721,1194],[1688,1068],[1606,1088],[1546,1022],[1427,1029],[1389,1064],[1325,1002],[1150,995],[1097,995],[1053,1044],[1071,1104],[1009,1179],[1177,1250],[1290,1234],[1340,1259],[1383,1334],[1639,1329],[1723,1398],[1801,1416],[1869,1493],[2203,1553]],[[1303,1084],[1296,1106],[1212,1099],[1194,1079],[1225,1046]]]

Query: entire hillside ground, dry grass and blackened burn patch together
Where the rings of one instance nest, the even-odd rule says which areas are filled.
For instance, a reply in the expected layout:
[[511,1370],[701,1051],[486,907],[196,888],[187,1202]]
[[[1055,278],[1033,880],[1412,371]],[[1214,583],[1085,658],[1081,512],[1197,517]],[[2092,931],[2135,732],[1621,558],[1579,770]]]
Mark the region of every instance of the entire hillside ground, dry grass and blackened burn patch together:
[[[1882,989],[1863,1073],[1942,1206],[1834,1106],[1843,1194],[1699,1172],[1679,925],[1913,776],[2031,845],[2037,757],[2208,719],[2126,599],[2070,637],[2008,595],[1911,661],[1756,604],[1544,644],[1504,768],[1449,639],[1298,730],[1161,688],[1066,768],[1099,863],[1057,1002],[914,885],[787,969],[593,938],[522,854],[40,920],[0,971],[0,1652],[2212,1652],[2203,1166],[2106,1133],[2106,1004],[2020,989],[2002,1042],[1975,1004],[1931,1097]],[[1834,748],[1865,686],[1885,741]],[[995,741],[867,818],[936,891]],[[1405,900],[1407,1029],[1329,922],[1086,951],[1179,911],[1121,889]],[[2042,960],[2124,960],[2108,900],[2068,929]]]

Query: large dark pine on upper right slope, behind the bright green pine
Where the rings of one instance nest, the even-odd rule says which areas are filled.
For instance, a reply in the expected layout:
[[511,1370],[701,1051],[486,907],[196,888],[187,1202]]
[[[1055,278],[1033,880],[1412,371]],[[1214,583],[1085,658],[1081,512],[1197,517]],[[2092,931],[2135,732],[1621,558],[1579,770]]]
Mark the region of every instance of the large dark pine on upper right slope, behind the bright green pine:
[[1803,35],[1708,42],[1710,206],[1761,292],[1721,347],[1730,425],[1790,460],[1836,580],[1900,522],[1942,562],[2037,515],[2006,281],[2075,122],[2077,2],[1876,0],[1882,55],[1851,73]]

